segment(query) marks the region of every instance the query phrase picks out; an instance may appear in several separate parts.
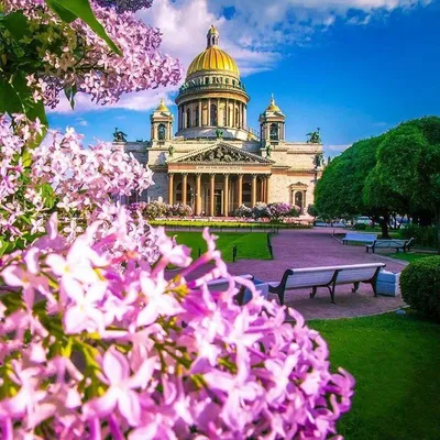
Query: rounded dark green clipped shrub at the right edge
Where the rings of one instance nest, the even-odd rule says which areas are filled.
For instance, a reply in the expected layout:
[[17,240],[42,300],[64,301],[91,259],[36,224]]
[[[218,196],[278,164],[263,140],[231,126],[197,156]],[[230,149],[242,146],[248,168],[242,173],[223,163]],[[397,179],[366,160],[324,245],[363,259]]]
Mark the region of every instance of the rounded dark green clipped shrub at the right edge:
[[409,306],[440,321],[440,256],[428,256],[406,267],[400,289]]

